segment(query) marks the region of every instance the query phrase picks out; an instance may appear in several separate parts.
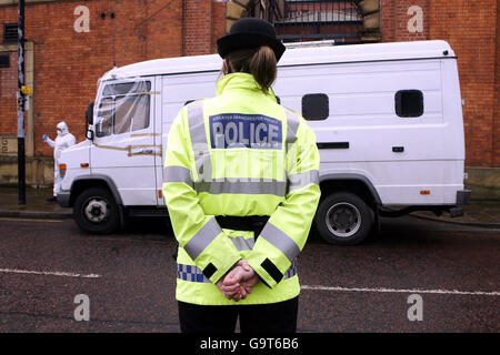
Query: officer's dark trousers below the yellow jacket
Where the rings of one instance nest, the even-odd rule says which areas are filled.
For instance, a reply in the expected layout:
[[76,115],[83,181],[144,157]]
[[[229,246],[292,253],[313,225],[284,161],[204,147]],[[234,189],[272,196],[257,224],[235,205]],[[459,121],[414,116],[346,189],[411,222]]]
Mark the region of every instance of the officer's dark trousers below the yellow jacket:
[[179,304],[182,333],[234,333],[238,317],[242,334],[296,333],[299,297],[289,301],[234,306]]

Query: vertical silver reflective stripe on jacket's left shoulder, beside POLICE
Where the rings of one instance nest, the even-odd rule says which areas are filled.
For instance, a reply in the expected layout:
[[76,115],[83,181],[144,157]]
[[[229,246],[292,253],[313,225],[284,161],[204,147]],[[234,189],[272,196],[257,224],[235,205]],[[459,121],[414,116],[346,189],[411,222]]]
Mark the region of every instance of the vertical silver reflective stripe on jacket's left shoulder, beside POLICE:
[[194,163],[201,181],[209,181],[212,178],[212,161],[207,141],[203,120],[203,101],[194,101],[188,104],[189,133],[191,134]]

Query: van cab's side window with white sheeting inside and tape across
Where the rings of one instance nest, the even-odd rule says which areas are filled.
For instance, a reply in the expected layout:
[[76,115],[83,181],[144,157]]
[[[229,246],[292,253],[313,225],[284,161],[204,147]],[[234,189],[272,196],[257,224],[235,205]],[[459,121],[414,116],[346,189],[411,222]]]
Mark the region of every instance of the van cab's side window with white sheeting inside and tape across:
[[106,85],[99,104],[96,135],[106,136],[147,129],[150,90],[149,81]]

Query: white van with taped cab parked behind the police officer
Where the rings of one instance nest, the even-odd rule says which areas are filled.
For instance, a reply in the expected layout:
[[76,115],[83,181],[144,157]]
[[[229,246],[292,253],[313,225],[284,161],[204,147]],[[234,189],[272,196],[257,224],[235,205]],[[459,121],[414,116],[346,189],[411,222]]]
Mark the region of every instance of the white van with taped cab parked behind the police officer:
[[[460,213],[469,191],[450,45],[294,47],[279,63],[273,91],[317,134],[319,234],[352,245],[381,215]],[[110,233],[129,216],[167,217],[161,186],[170,124],[186,103],[214,97],[221,65],[217,54],[159,59],[114,68],[99,80],[87,140],[61,155],[58,202],[73,207],[81,229]]]

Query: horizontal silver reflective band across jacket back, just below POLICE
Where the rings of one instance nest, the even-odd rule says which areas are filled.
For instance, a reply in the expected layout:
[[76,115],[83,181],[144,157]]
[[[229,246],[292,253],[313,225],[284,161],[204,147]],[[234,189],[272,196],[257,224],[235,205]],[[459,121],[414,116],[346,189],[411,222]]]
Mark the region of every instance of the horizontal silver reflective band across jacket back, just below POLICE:
[[284,196],[287,183],[284,181],[231,181],[234,179],[216,180],[211,182],[196,182],[194,189],[198,193],[208,192],[211,194],[233,193],[233,194],[268,194]]

